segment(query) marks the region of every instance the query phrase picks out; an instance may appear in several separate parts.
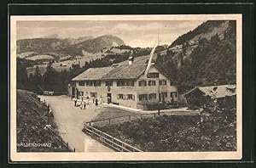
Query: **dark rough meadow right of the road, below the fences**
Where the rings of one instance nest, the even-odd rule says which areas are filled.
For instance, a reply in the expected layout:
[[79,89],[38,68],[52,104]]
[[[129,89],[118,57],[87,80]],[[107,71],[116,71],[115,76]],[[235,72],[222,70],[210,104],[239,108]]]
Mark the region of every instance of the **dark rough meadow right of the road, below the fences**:
[[236,123],[200,116],[167,116],[97,127],[143,151],[234,151]]

